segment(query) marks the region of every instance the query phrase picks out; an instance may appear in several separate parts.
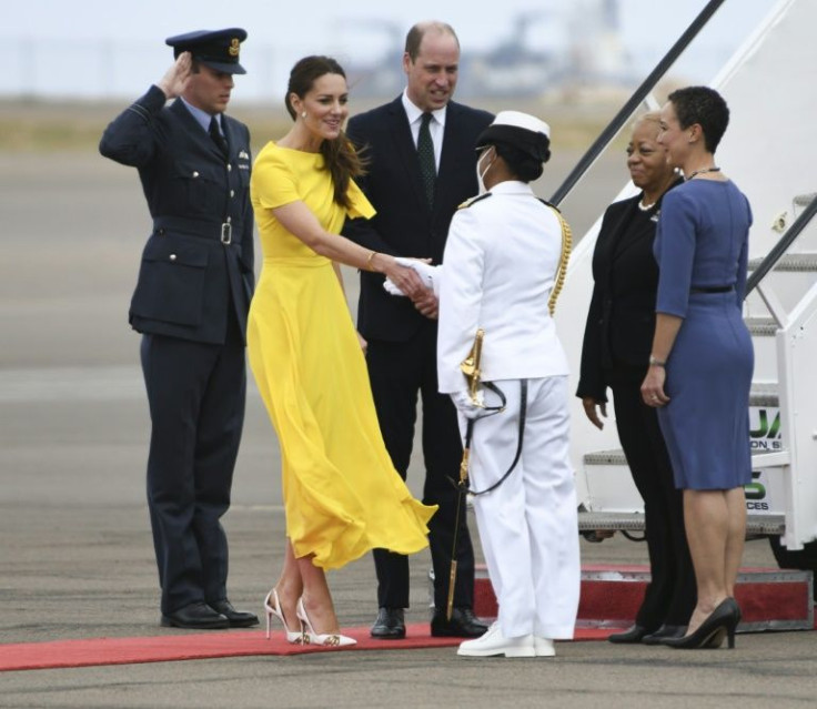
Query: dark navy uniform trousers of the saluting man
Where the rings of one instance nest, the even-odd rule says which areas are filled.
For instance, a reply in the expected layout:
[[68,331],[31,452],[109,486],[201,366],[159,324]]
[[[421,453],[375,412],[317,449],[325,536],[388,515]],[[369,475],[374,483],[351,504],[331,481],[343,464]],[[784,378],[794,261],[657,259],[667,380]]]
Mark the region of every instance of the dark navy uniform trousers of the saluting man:
[[161,609],[226,598],[230,506],[244,421],[244,345],[234,315],[223,345],[145,334],[142,372],[152,423],[148,508]]

